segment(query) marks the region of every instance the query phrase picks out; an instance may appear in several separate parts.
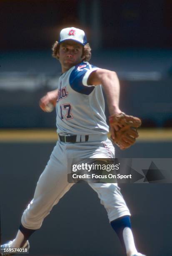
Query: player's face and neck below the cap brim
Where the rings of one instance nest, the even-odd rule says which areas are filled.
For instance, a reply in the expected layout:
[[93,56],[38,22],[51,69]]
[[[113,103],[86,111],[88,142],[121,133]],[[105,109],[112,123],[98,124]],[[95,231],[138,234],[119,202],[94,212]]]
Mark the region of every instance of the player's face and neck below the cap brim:
[[62,66],[62,73],[80,63],[85,56],[82,56],[83,46],[72,40],[60,44],[59,61]]

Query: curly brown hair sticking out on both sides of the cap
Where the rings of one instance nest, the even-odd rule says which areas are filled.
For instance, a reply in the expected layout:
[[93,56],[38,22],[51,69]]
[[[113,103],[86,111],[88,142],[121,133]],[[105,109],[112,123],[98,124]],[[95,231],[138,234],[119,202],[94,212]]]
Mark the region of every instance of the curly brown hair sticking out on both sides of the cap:
[[[55,43],[52,46],[52,57],[53,58],[59,59],[59,57],[57,56],[57,53],[59,52],[59,47],[60,47],[60,44],[57,41],[55,41]],[[85,56],[83,61],[89,61],[91,59],[91,47],[90,47],[90,44],[87,43],[83,47],[82,56],[83,55]]]

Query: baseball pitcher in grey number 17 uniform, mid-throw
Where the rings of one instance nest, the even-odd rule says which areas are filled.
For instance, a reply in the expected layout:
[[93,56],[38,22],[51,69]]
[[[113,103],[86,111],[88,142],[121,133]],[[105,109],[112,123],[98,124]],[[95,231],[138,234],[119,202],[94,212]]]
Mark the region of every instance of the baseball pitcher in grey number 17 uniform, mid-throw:
[[[59,139],[40,175],[33,199],[22,214],[15,239],[1,246],[2,255],[9,254],[4,252],[7,248],[29,248],[28,238],[41,227],[52,207],[73,185],[67,182],[72,158],[115,158],[114,146],[107,138],[109,126],[104,113],[102,88],[107,97],[110,131],[114,141],[117,132],[125,127],[115,123],[116,117],[125,115],[119,108],[120,85],[117,75],[87,62],[91,57],[91,49],[84,31],[74,27],[62,29],[59,41],[52,47],[52,56],[60,61],[62,74],[57,90],[41,98],[40,108],[49,111],[50,104],[56,106]],[[137,129],[130,130],[131,135],[126,133],[125,139],[116,141],[122,149],[135,142]],[[110,225],[120,238],[126,255],[144,256],[135,247],[130,211],[117,183],[89,185],[97,192],[107,210]]]

